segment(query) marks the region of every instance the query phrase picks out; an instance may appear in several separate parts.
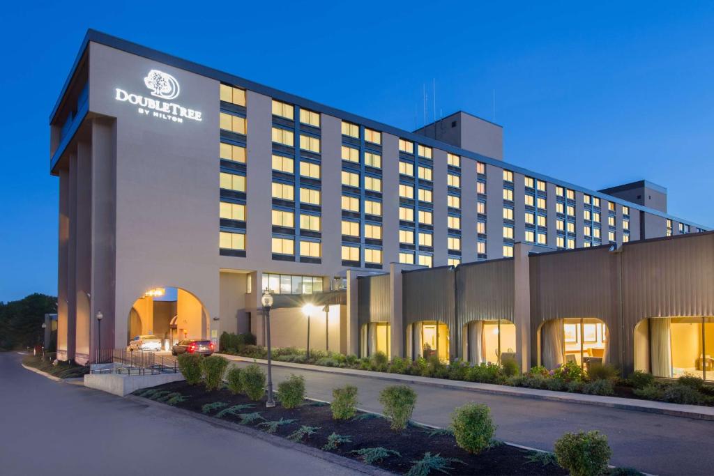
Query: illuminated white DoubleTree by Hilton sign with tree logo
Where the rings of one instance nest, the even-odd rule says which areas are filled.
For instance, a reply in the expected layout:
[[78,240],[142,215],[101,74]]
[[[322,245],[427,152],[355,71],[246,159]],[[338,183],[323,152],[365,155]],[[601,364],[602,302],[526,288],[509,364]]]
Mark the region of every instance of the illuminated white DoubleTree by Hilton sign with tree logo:
[[139,114],[165,121],[182,123],[184,119],[199,122],[202,120],[200,111],[194,111],[181,106],[181,104],[171,102],[171,99],[177,98],[181,91],[178,81],[171,74],[152,69],[144,78],[144,84],[151,91],[151,96],[156,99],[116,88],[116,101],[137,106]]

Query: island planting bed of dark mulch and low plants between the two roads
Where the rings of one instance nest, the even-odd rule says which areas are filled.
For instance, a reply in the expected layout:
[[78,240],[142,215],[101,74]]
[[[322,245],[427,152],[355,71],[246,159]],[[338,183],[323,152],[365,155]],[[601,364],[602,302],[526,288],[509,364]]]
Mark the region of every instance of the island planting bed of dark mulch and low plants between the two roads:
[[[319,449],[323,449],[328,444],[328,437],[334,433],[347,437],[348,440],[343,440],[334,449],[326,451],[358,461],[364,462],[363,457],[358,453],[360,450],[381,447],[387,450],[387,455],[371,464],[396,473],[409,472],[415,462],[422,460],[426,452],[431,452],[432,456],[456,459],[447,462],[451,469],[444,468],[452,475],[568,474],[558,467],[550,457],[552,455],[547,453],[531,452],[496,442],[481,454],[471,455],[461,450],[456,445],[453,435],[443,430],[435,431],[410,424],[406,430],[395,432],[391,430],[390,422],[386,418],[359,411],[349,420],[333,420],[329,405],[311,400],[305,400],[303,405],[290,410],[283,408],[279,402],[274,408],[266,408],[265,397],[253,401],[245,395],[235,395],[226,388],[208,392],[203,384],[188,385],[186,382],[167,383],[148,390],[139,390],[136,395],[153,397],[153,400],[158,399],[179,408],[220,417],[221,420],[272,432],[281,437],[287,438],[292,435],[293,440],[298,438],[295,433],[303,428],[304,433],[313,432],[310,435],[303,435],[299,441]],[[231,410],[233,407],[236,410]],[[277,423],[281,420],[282,423]],[[340,440],[338,437],[332,439]],[[431,474],[442,473],[432,470]]]

